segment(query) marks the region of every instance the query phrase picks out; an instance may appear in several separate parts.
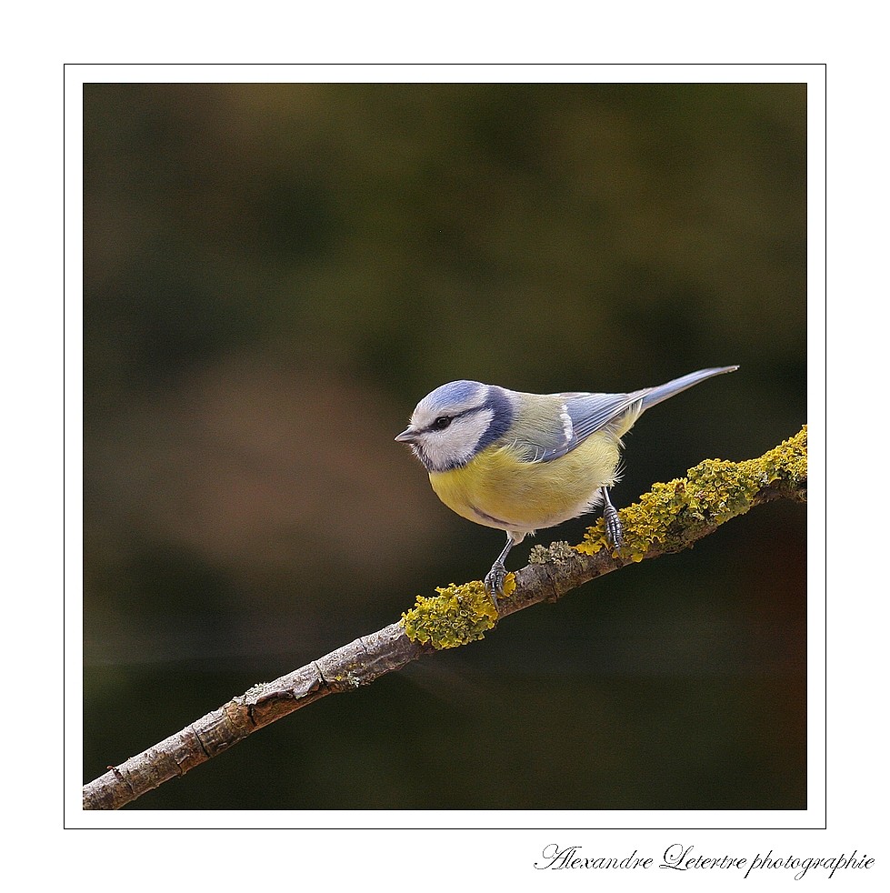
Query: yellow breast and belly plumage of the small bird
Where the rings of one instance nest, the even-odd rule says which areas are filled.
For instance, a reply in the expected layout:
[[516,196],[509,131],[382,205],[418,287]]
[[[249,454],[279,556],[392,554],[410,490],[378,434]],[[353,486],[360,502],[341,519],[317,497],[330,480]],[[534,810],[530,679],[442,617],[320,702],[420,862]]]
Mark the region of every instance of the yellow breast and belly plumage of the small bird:
[[594,507],[597,491],[615,483],[618,446],[597,433],[552,462],[523,462],[512,447],[489,447],[464,467],[431,472],[430,484],[470,521],[531,533]]

